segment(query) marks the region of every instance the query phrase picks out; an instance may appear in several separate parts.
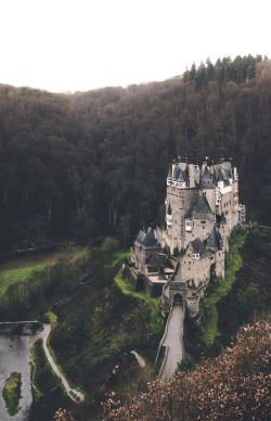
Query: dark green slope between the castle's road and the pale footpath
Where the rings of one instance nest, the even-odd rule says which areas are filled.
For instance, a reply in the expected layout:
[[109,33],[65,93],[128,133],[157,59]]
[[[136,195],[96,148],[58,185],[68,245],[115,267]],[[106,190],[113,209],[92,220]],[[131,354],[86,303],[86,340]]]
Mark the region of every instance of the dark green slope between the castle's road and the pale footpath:
[[[108,278],[102,283],[98,279],[53,307],[59,324],[51,346],[57,362],[98,407],[106,391],[114,387],[126,393],[130,382],[141,375],[131,350],[153,363],[163,333],[163,326],[157,322],[158,301],[128,290],[118,272],[115,281]],[[118,375],[109,380],[115,366],[119,367]]]

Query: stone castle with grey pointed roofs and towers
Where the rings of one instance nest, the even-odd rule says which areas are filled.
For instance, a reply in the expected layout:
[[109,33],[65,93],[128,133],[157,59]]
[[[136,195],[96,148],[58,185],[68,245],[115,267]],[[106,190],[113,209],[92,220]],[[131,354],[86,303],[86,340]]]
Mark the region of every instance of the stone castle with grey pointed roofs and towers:
[[238,176],[231,162],[189,164],[172,161],[167,177],[165,224],[140,231],[131,247],[127,278],[136,290],[173,303],[191,317],[210,279],[224,278],[229,237],[245,222]]

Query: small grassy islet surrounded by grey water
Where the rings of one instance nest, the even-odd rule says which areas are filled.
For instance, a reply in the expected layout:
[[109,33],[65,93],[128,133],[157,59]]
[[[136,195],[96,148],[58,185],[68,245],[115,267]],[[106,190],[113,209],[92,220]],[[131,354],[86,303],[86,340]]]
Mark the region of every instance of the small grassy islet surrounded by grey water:
[[8,412],[11,417],[14,417],[20,411],[21,388],[22,374],[14,372],[5,381],[2,392]]

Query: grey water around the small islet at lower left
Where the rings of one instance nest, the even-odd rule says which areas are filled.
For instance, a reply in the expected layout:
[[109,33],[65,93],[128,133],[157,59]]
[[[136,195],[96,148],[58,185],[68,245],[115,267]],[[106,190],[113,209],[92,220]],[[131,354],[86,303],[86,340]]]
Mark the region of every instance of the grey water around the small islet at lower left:
[[[29,359],[29,336],[11,339],[0,335],[0,420],[1,421],[27,421],[33,403]],[[5,380],[13,373],[22,374],[22,398],[20,411],[16,416],[9,416],[2,391]]]

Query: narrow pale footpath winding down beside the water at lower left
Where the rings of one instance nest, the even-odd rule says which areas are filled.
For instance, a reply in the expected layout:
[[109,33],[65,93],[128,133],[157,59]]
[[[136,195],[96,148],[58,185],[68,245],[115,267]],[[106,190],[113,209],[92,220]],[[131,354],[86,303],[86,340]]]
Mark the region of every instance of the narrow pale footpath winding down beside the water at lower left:
[[54,362],[54,360],[53,360],[53,358],[52,358],[52,356],[50,354],[50,350],[49,350],[49,348],[47,346],[47,342],[48,342],[48,337],[49,337],[50,332],[51,332],[51,326],[50,324],[43,324],[43,330],[41,332],[39,332],[36,335],[29,337],[29,347],[31,347],[37,340],[39,340],[39,339],[42,340],[43,349],[44,349],[47,359],[50,362],[53,371],[61,379],[61,381],[63,383],[63,386],[65,387],[68,396],[70,397],[70,399],[73,399],[74,401],[79,404],[80,401],[82,401],[85,399],[85,396],[80,392],[76,391],[75,388],[69,387],[69,384],[68,384],[66,378],[62,374],[62,372],[60,371],[59,367],[55,365],[55,362]]

